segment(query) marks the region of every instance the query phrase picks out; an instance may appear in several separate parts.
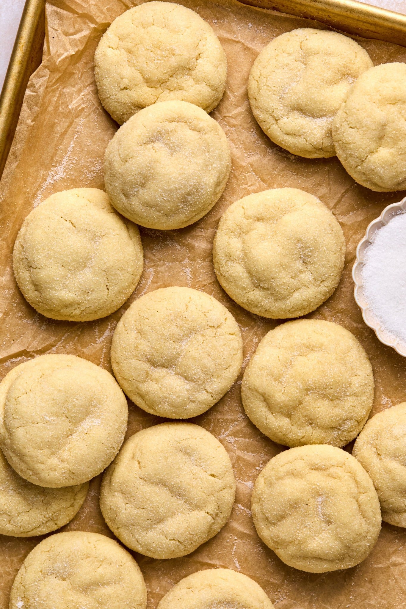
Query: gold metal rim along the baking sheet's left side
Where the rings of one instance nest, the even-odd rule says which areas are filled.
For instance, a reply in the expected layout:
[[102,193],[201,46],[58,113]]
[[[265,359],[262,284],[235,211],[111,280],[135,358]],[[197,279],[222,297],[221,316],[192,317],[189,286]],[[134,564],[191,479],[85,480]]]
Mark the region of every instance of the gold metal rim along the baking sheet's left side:
[[27,82],[41,63],[45,0],[26,0],[0,95],[0,178],[13,141]]

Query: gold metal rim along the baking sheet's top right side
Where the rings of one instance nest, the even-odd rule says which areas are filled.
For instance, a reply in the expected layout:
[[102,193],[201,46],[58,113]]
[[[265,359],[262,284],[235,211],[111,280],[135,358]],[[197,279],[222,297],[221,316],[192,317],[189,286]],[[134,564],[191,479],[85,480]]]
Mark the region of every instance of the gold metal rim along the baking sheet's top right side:
[[[356,0],[240,0],[262,9],[310,17],[328,26],[406,46],[406,15]],[[405,0],[406,2],[406,0]]]

